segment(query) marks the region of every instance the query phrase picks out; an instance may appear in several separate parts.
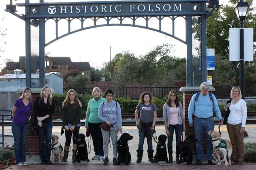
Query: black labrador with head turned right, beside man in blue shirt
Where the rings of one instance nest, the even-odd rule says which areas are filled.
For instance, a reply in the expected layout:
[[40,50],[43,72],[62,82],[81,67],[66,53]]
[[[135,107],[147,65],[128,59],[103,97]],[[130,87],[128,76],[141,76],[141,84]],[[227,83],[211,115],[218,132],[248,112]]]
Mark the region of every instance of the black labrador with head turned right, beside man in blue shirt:
[[180,161],[179,161],[180,164],[181,164],[181,162],[187,162],[187,165],[192,164],[193,155],[192,155],[192,152],[190,149],[191,142],[198,142],[198,140],[195,139],[194,136],[188,136],[181,143],[181,145],[180,145]]

